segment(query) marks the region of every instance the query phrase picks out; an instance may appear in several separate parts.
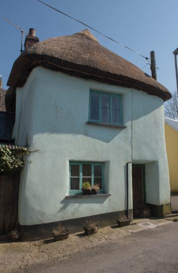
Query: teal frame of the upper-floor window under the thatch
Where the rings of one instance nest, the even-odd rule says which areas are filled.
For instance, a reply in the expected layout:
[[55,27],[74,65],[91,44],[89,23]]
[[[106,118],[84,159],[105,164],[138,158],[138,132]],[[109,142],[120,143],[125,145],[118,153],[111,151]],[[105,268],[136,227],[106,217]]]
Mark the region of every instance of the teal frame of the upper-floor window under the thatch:
[[[99,94],[99,120],[91,119],[91,93],[97,93]],[[107,94],[109,95],[109,123],[102,122],[101,120],[101,95]],[[119,122],[112,122],[112,97],[118,97],[119,98]],[[115,94],[115,93],[108,93],[108,92],[101,92],[101,91],[89,91],[89,121],[94,123],[102,123],[102,124],[111,124],[111,125],[123,125],[123,116],[122,116],[122,95]]]

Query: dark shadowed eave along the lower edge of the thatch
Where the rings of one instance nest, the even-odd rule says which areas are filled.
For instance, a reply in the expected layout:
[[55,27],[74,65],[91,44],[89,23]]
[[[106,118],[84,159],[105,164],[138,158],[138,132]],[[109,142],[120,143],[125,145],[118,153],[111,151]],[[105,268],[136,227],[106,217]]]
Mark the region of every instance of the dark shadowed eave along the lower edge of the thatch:
[[[21,63],[20,67],[19,62]],[[7,81],[7,85],[23,87],[30,72],[33,68],[37,66],[43,66],[51,70],[60,71],[80,78],[145,91],[151,95],[157,95],[161,97],[164,101],[169,100],[172,97],[171,93],[165,87],[163,87],[165,90],[163,91],[159,88],[148,85],[144,82],[140,82],[133,78],[112,74],[110,72],[101,71],[99,69],[88,67],[85,65],[63,61],[55,57],[49,58],[49,56],[47,55],[28,54],[28,51],[22,53],[14,62]]]

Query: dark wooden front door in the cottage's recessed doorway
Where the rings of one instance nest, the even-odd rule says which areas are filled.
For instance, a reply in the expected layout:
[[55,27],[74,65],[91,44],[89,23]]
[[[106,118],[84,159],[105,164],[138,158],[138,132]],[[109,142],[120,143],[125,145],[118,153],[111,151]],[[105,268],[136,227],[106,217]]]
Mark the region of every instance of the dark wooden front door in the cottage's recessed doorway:
[[144,183],[143,166],[132,166],[132,184],[133,184],[133,215],[137,216],[144,207]]

